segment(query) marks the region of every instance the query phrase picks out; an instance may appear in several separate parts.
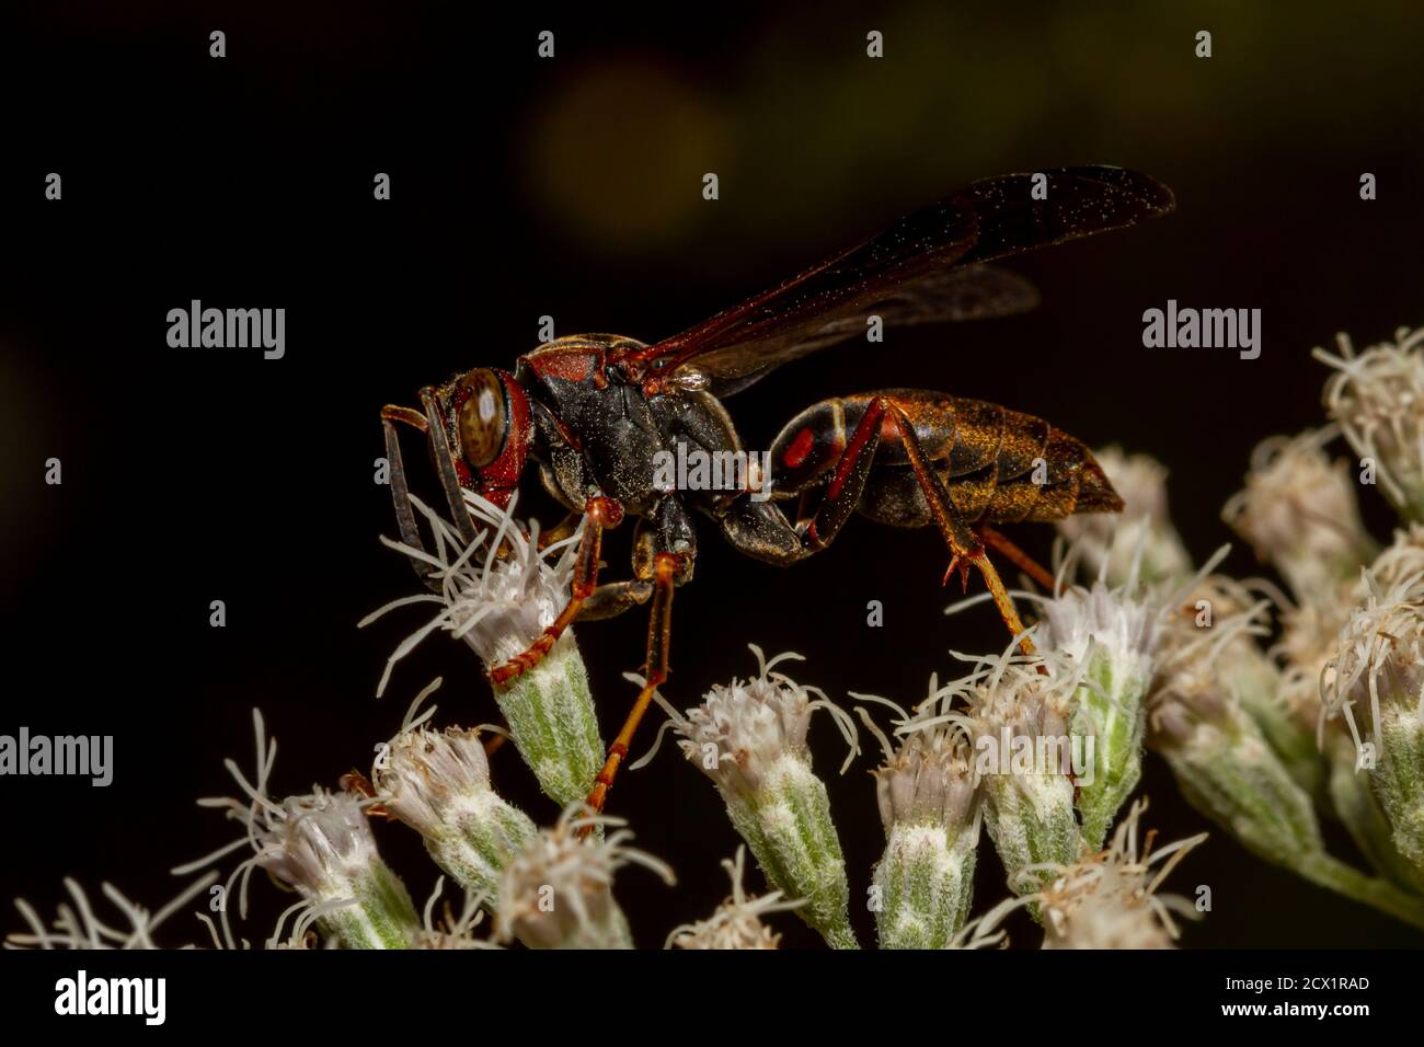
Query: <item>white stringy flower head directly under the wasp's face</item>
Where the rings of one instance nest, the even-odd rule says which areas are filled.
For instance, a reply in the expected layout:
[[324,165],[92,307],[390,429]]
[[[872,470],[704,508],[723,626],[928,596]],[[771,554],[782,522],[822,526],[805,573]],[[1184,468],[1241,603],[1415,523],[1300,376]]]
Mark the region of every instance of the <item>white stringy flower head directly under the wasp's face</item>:
[[434,553],[382,537],[390,548],[431,567],[441,591],[439,595],[423,593],[393,600],[360,621],[360,625],[369,625],[387,611],[409,604],[436,604],[440,608],[390,655],[376,688],[377,697],[384,692],[394,664],[437,630],[464,640],[488,670],[523,654],[568,603],[582,524],[571,537],[540,551],[538,521],[531,520],[525,534],[514,520],[517,496],[507,510],[468,490],[464,500],[470,514],[484,524],[468,546],[461,547],[454,527],[414,497],[412,503],[430,521],[434,533]]

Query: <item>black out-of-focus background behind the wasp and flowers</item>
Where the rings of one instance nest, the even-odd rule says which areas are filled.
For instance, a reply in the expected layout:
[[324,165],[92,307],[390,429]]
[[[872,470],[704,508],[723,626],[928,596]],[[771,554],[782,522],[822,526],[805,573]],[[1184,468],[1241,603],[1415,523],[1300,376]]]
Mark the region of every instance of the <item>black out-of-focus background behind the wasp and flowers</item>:
[[[177,889],[169,866],[231,839],[236,826],[192,799],[231,791],[224,756],[251,768],[253,705],[281,742],[282,792],[369,765],[434,675],[443,722],[494,718],[478,664],[446,637],[373,698],[387,654],[422,621],[355,627],[416,591],[377,543],[394,530],[372,481],[377,410],[457,369],[513,365],[544,313],[560,333],[654,340],[971,178],[1138,167],[1176,191],[1178,214],[1015,262],[1044,293],[1035,313],[844,346],[729,407],[748,446],[763,447],[836,393],[923,386],[1002,402],[1168,462],[1198,558],[1230,537],[1219,510],[1252,446],[1320,422],[1324,369],[1310,348],[1420,319],[1420,26],[1404,3],[1349,14],[716,4],[685,20],[93,3],[10,17],[0,731],[115,736],[108,789],[0,782],[0,895],[43,912],[66,875],[157,907]],[[208,57],[212,28],[226,33],[226,58]],[[557,34],[553,61],[535,57],[541,28]],[[886,33],[881,63],[864,57],[869,28]],[[1199,28],[1215,33],[1209,61],[1192,54]],[[64,179],[60,202],[43,198],[50,171]],[[389,202],[372,199],[376,171],[392,175]],[[721,175],[716,202],[701,198],[705,171]],[[1361,171],[1378,175],[1380,199],[1360,201]],[[286,358],[169,349],[167,311],[192,298],[286,308]],[[1262,358],[1143,349],[1142,311],[1168,298],[1260,308]],[[60,487],[43,483],[50,456],[63,460]],[[414,443],[407,462],[424,466]],[[525,497],[557,519],[533,487]],[[1386,536],[1374,493],[1363,501]],[[605,553],[611,574],[625,570],[624,530]],[[1048,528],[1014,537],[1047,558]],[[1243,550],[1229,566],[1256,570]],[[928,531],[860,521],[782,571],[703,528],[665,694],[685,707],[746,675],[755,641],[807,655],[799,678],[837,699],[917,699],[931,672],[954,671],[950,647],[1002,642],[987,608],[940,617],[943,568]],[[219,598],[228,625],[214,630]],[[884,628],[866,627],[869,600],[884,601]],[[621,675],[642,660],[644,627],[629,615],[578,630],[607,736],[634,694]],[[869,942],[859,899],[883,845],[869,762],[837,778],[834,729],[817,722],[812,741]],[[540,821],[555,813],[513,752],[496,781]],[[1165,839],[1205,828],[1156,758],[1145,792]],[[619,781],[609,811],[681,880],[619,880],[639,943],[711,912],[736,838],[708,781],[669,749]],[[423,899],[434,875],[414,835],[377,832]],[[1213,892],[1192,946],[1418,944],[1219,832],[1173,883]],[[286,903],[265,885],[256,895],[263,917]],[[1002,895],[985,842],[975,907]],[[778,926],[786,944],[816,943],[793,920]],[[1020,944],[1035,940],[1020,930]],[[195,937],[192,924],[171,929],[174,944]]]

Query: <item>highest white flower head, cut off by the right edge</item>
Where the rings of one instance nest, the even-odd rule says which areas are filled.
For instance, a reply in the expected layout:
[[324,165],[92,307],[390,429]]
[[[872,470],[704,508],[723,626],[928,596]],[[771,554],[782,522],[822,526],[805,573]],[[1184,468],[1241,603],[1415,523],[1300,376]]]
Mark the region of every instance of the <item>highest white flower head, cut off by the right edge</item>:
[[1424,328],[1400,328],[1356,356],[1349,335],[1337,335],[1340,355],[1316,349],[1336,369],[1324,402],[1346,440],[1377,469],[1386,497],[1410,519],[1424,514]]

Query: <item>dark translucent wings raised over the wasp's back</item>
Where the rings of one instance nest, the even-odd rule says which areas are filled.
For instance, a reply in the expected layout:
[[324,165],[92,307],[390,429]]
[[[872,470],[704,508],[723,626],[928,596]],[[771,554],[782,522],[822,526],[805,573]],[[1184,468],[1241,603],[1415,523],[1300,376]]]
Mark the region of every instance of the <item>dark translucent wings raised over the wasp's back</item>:
[[1044,174],[1047,199],[1034,199],[1032,174],[977,181],[631,359],[678,376],[701,375],[728,396],[786,360],[863,332],[870,313],[891,325],[1018,312],[1031,301],[1002,271],[975,266],[954,278],[950,266],[1126,228],[1173,205],[1171,189],[1125,168]]

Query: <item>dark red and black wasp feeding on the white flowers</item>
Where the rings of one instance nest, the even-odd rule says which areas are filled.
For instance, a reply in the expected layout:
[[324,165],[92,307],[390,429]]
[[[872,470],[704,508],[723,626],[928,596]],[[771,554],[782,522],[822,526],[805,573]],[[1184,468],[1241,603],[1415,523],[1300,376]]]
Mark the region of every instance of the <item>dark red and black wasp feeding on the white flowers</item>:
[[[427,386],[422,410],[382,410],[402,540],[423,548],[397,422],[426,434],[464,541],[478,531],[461,489],[504,507],[531,463],[570,510],[548,540],[584,523],[567,604],[528,650],[491,671],[496,685],[537,665],[575,618],[649,605],[646,682],[592,786],[595,811],[668,678],[672,595],[696,563],[695,514],[742,553],[782,566],[830,546],[857,511],[893,527],[934,524],[948,546],[944,581],[958,570],[967,585],[975,568],[1031,652],[988,548],[1045,584],[1051,578],[997,526],[1122,509],[1088,447],[1049,423],[946,393],[886,389],[806,407],[773,442],[770,476],[743,476],[733,490],[668,490],[655,483],[655,464],[668,453],[742,452],[722,400],[773,368],[864,335],[871,318],[891,326],[1021,312],[1037,303],[1032,286],[993,262],[1172,207],[1165,185],[1125,168],[987,178],[681,335],[651,345],[621,335],[560,338],[520,356],[513,372],[476,368]],[[632,577],[605,581],[602,536],[625,516],[637,517]],[[417,571],[439,588],[429,567]]]

